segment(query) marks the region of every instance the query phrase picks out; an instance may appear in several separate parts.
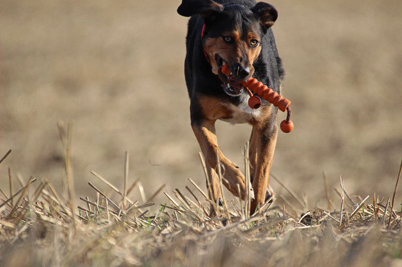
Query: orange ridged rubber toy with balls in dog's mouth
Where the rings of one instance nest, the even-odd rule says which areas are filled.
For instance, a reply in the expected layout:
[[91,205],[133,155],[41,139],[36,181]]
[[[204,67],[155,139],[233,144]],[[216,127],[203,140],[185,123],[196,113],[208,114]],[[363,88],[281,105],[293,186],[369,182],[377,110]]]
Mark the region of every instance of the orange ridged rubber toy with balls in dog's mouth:
[[[230,77],[230,70],[229,65],[225,63],[221,68],[220,71],[225,74],[226,76]],[[269,103],[273,104],[275,107],[279,108],[280,111],[285,112],[287,110],[287,117],[286,120],[283,120],[280,123],[280,129],[284,133],[290,133],[293,130],[293,122],[290,120],[290,101],[286,98],[283,98],[280,94],[273,91],[271,88],[268,88],[265,84],[258,81],[255,78],[250,78],[247,81],[236,81],[238,84],[246,88],[247,92],[250,94],[250,98],[248,100],[248,105],[253,108],[257,109],[261,106],[261,99],[262,97],[264,100],[268,101]],[[258,96],[253,95],[251,92],[257,94]]]

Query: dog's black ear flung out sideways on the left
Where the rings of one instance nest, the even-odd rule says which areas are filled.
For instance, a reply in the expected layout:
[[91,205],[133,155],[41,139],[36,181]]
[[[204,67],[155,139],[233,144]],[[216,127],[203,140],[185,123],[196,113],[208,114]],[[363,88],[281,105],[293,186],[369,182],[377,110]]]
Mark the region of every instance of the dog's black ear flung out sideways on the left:
[[213,0],[182,0],[177,12],[182,16],[200,14],[204,19],[214,19],[223,10],[223,5]]

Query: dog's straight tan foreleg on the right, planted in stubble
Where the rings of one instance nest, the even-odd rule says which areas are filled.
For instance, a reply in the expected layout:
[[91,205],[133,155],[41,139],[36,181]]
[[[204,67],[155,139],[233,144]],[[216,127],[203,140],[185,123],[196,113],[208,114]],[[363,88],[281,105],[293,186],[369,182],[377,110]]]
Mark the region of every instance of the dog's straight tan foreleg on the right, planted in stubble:
[[269,173],[277,135],[278,126],[276,124],[270,128],[261,129],[253,127],[250,139],[250,164],[251,167],[255,164],[255,173],[252,181],[255,199],[251,201],[251,214],[255,212],[257,206],[261,207],[264,204],[267,189],[271,196],[273,196],[273,191],[269,186]]

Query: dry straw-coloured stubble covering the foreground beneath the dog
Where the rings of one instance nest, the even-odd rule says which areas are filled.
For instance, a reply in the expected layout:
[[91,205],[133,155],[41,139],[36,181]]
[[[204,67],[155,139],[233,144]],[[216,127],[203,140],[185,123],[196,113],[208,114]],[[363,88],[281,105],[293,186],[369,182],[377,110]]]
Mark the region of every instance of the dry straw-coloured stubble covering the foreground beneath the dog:
[[[22,189],[10,198],[1,191],[0,262],[3,266],[378,267],[401,264],[402,213],[393,210],[394,197],[391,203],[389,198],[384,201],[375,195],[355,202],[344,191],[342,181],[337,201],[340,210],[316,208],[297,212],[295,216],[297,209],[288,212],[285,206],[275,206],[273,200],[249,216],[249,200],[236,199],[224,200],[223,207],[211,202],[216,216],[209,218],[207,193],[191,179],[185,187],[187,192],[184,189],[164,192],[167,204],[150,203],[164,189],[163,185],[144,201],[145,205],[137,205],[138,201],[128,196],[141,184],[137,180],[128,187],[129,155],[126,153],[123,191],[92,172],[118,193],[118,201],[112,201],[89,183],[88,196],[80,198],[78,206],[72,206],[75,199],[73,173],[69,168],[70,127],[60,125],[59,128],[67,166],[65,198],[48,181],[34,177],[25,185],[20,177]],[[9,174],[12,183],[13,175]],[[396,190],[397,182],[394,195]]]

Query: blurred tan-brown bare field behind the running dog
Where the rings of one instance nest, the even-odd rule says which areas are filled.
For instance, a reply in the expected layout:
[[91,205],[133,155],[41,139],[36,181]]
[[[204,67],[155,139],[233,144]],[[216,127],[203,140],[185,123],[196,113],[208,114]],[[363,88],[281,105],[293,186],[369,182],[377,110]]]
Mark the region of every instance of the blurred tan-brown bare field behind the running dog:
[[[147,196],[162,183],[184,190],[188,178],[205,188],[180,2],[0,0],[0,158],[13,150],[0,165],[6,194],[9,167],[61,188],[59,121],[74,127],[78,196],[88,182],[109,190],[91,170],[122,187],[126,150],[130,181],[139,178]],[[311,207],[326,206],[323,171],[332,198],[340,175],[350,194],[391,196],[402,157],[402,2],[270,3],[295,124],[279,133],[272,173]],[[217,123],[223,153],[239,166],[250,130]]]

